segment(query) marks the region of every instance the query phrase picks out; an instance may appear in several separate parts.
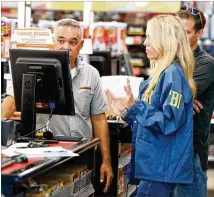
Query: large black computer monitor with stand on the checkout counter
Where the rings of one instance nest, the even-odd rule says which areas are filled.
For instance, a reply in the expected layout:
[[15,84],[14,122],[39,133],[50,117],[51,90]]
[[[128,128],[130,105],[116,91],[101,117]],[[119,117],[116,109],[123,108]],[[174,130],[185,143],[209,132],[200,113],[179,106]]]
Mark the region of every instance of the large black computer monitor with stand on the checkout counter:
[[10,49],[10,64],[21,136],[35,130],[36,113],[75,115],[68,51]]

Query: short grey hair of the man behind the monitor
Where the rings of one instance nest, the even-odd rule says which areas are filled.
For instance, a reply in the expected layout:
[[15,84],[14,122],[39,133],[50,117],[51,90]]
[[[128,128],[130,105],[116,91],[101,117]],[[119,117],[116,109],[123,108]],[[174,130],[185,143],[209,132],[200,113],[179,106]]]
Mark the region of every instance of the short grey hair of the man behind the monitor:
[[54,36],[56,34],[56,31],[58,30],[58,28],[60,26],[69,26],[69,27],[76,27],[76,28],[78,28],[79,29],[80,38],[83,39],[83,29],[82,29],[82,27],[81,27],[81,25],[79,24],[78,21],[76,21],[74,19],[71,19],[71,18],[65,18],[65,19],[59,20],[56,23],[56,26],[54,28]]

